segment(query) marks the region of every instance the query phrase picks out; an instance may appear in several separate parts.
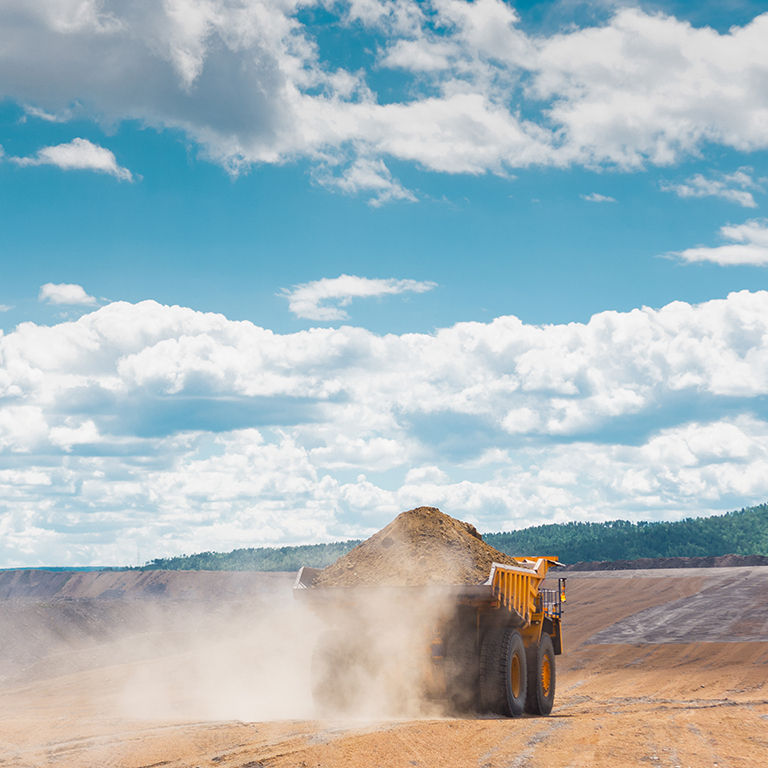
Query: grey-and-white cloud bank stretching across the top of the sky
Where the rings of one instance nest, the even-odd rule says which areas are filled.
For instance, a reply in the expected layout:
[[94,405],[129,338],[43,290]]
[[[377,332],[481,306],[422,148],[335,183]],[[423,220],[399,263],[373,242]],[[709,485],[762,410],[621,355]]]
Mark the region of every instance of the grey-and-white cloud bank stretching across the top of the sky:
[[[301,16],[320,5],[342,37],[376,35],[367,62],[323,58]],[[42,119],[79,104],[84,118],[177,130],[233,174],[309,158],[326,183],[384,203],[414,195],[391,159],[509,175],[765,149],[767,34],[768,14],[720,33],[627,7],[596,26],[528,33],[503,0],[27,0],[0,7],[0,91]],[[372,87],[386,69],[406,76],[399,98]],[[723,183],[721,196],[748,202],[749,188]]]

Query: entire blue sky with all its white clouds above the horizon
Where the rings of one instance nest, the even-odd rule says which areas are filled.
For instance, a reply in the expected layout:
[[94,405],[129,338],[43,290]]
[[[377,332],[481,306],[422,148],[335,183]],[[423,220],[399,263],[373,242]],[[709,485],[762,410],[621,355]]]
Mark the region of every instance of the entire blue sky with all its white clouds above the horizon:
[[0,566],[765,501],[763,10],[0,2]]

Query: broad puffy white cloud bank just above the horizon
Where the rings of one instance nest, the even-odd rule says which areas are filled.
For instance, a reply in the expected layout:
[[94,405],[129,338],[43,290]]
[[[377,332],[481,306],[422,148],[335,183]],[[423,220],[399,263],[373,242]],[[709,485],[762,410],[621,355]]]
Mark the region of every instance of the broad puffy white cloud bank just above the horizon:
[[768,292],[432,334],[152,301],[0,336],[0,563],[481,530],[768,496]]

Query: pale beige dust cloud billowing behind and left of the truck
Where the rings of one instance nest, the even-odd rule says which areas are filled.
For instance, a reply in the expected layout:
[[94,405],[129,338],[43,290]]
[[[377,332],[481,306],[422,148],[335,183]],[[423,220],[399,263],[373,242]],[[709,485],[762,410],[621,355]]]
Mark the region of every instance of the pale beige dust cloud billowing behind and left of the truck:
[[83,706],[128,720],[445,714],[431,654],[444,652],[435,627],[451,607],[436,591],[366,592],[320,615],[285,587],[237,601],[7,601],[0,687],[77,678]]

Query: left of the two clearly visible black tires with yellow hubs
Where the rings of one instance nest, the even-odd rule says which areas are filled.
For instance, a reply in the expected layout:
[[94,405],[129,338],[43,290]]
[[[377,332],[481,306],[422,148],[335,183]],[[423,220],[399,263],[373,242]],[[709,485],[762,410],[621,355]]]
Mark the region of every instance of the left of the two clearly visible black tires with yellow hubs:
[[486,711],[505,717],[523,714],[526,667],[525,645],[516,629],[488,630],[480,653],[480,695]]

